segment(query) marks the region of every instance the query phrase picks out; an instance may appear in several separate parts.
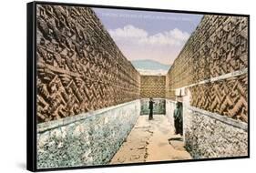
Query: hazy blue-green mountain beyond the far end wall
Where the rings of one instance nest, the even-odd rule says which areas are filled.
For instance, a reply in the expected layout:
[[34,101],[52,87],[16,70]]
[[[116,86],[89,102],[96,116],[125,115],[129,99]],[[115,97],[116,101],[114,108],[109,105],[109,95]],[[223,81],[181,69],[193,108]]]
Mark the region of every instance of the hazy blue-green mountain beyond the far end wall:
[[145,70],[169,70],[169,65],[164,65],[154,60],[133,60],[131,64],[137,69],[145,69]]

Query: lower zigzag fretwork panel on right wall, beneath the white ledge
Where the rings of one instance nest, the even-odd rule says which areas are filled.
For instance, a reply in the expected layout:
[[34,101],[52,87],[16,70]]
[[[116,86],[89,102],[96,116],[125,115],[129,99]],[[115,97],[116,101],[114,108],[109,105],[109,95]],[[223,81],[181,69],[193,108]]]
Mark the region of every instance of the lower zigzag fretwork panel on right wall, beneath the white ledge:
[[232,77],[189,87],[190,105],[234,119],[248,121],[248,77]]

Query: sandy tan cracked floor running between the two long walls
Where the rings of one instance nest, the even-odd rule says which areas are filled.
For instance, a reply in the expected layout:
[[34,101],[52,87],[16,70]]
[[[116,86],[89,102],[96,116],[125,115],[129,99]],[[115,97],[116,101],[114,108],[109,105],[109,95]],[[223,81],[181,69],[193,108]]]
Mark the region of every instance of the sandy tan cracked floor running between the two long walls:
[[179,139],[166,116],[154,115],[150,121],[140,116],[110,164],[190,159]]

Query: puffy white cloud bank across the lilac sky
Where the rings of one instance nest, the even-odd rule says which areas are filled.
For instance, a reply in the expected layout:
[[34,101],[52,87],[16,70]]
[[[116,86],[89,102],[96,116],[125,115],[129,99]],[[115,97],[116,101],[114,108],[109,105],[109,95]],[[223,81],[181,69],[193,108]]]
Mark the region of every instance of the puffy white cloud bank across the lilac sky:
[[137,45],[150,46],[182,46],[189,38],[189,33],[178,28],[149,36],[148,32],[133,25],[109,30],[110,36],[115,41],[129,42]]

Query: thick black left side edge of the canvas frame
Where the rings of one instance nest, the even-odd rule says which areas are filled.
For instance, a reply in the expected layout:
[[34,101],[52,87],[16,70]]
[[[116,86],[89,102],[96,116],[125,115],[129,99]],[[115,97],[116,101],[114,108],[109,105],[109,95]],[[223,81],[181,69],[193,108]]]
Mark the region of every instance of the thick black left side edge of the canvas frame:
[[26,168],[36,171],[36,3],[26,11]]

